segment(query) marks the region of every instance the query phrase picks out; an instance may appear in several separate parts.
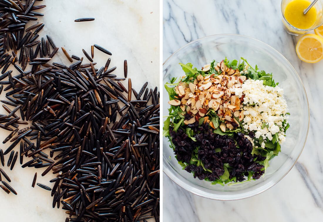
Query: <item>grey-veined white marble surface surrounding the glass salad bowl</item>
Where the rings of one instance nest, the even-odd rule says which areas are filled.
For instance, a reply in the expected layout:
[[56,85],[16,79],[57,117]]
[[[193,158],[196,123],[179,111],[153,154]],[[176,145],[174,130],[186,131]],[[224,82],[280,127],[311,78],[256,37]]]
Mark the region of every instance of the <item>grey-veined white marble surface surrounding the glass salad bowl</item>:
[[310,128],[305,148],[292,170],[274,187],[238,201],[195,196],[163,174],[164,221],[321,221],[323,216],[323,138],[321,136],[323,62],[301,62],[298,37],[282,25],[279,0],[164,0],[163,60],[185,44],[214,34],[241,34],[261,40],[282,53],[305,85]]

